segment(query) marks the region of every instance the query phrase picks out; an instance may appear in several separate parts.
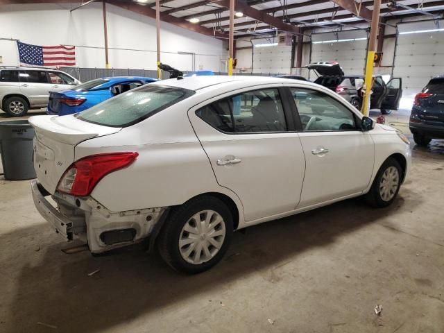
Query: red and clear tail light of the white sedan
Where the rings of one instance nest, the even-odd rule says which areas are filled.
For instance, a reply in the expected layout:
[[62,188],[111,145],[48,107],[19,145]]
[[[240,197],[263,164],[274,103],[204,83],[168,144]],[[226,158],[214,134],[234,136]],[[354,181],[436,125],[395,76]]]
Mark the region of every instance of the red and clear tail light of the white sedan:
[[58,191],[73,196],[89,196],[97,183],[108,173],[132,164],[138,153],[111,153],[84,157],[65,171],[58,182]]

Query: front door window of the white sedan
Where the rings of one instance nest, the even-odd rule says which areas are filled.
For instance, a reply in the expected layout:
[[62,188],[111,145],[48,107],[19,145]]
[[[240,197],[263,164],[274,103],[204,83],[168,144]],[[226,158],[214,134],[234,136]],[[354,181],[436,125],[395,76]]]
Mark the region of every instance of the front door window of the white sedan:
[[357,130],[353,112],[323,92],[290,88],[304,131]]

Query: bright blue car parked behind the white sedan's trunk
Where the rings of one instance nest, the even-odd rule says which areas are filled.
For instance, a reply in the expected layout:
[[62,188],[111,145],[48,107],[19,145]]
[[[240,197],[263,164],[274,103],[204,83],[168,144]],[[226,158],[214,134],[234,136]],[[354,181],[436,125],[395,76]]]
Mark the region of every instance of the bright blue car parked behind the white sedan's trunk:
[[77,113],[106,101],[113,96],[154,81],[157,80],[155,78],[135,76],[96,78],[95,80],[77,85],[73,89],[49,92],[49,105],[46,113],[58,116]]

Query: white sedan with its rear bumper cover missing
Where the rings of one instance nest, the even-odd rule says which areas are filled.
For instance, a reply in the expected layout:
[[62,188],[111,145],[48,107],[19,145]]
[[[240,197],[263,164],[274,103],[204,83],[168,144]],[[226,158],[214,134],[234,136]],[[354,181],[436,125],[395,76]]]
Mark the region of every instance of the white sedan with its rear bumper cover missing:
[[394,128],[284,78],[164,80],[29,121],[35,206],[58,233],[92,253],[148,238],[187,273],[219,262],[234,230],[355,196],[390,205],[411,160]]

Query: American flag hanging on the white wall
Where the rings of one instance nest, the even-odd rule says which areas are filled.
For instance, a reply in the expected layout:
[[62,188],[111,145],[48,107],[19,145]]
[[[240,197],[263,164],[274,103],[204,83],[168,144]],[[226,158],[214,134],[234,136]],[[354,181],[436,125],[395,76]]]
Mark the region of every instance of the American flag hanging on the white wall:
[[38,46],[17,42],[20,65],[31,66],[75,66],[76,46]]

